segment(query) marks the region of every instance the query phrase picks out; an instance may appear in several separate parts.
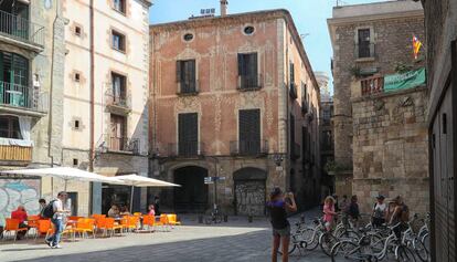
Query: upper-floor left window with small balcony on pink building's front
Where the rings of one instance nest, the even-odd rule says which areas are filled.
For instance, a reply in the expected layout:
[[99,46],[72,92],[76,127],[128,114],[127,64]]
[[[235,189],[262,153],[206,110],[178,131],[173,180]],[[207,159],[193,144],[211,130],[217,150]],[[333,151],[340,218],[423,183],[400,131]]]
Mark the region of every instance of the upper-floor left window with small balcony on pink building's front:
[[196,93],[195,60],[177,61],[178,93]]

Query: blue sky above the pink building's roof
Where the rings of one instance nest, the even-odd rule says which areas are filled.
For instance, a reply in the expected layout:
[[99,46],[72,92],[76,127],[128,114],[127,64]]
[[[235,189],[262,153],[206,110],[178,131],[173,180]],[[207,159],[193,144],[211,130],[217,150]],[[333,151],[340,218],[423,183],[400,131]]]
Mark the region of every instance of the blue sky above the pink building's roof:
[[[383,0],[343,0],[344,4],[380,2]],[[215,8],[219,0],[153,0],[149,21],[155,23],[185,20],[191,14],[199,15],[200,9]],[[299,34],[305,38],[305,49],[313,71],[330,73],[332,56],[327,19],[331,17],[337,0],[228,0],[228,13],[251,12],[268,9],[287,9],[290,11]]]

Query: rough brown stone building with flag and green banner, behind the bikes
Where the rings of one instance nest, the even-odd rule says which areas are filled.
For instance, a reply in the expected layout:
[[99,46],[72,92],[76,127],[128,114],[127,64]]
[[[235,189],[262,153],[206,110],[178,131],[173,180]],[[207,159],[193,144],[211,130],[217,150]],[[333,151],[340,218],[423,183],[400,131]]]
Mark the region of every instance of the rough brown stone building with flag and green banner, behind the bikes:
[[378,193],[403,195],[413,211],[428,210],[426,92],[387,94],[383,84],[375,92],[362,90],[378,86],[384,75],[424,66],[425,56],[414,60],[412,48],[413,35],[426,42],[421,3],[336,7],[328,24],[333,46],[334,159],[340,172],[337,193],[358,195],[365,211]]

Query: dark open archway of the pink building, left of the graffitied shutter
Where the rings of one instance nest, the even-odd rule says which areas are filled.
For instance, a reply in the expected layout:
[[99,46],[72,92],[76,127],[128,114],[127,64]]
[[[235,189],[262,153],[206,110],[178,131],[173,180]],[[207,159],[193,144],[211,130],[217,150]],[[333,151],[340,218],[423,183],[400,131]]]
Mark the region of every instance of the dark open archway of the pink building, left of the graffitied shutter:
[[173,181],[181,185],[174,188],[174,210],[177,212],[203,212],[208,208],[208,185],[204,184],[208,170],[188,166],[174,170]]

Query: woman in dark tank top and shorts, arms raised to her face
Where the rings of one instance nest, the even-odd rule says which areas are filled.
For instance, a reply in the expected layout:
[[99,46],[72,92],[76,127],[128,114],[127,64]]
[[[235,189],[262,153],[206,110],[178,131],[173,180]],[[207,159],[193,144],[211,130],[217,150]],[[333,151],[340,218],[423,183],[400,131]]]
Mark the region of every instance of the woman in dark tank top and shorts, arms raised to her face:
[[278,259],[279,244],[283,245],[283,262],[287,262],[290,241],[290,223],[287,220],[287,212],[297,211],[294,193],[284,195],[280,188],[275,187],[269,193],[267,209],[273,227],[272,262],[276,262]]

